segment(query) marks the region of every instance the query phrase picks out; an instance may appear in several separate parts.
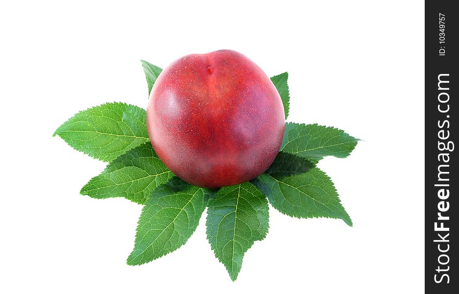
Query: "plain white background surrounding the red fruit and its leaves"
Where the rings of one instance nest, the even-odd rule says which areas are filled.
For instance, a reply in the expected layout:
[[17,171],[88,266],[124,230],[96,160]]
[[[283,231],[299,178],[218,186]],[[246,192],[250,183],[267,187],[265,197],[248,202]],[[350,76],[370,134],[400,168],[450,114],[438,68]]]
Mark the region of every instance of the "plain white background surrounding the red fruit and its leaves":
[[[64,2],[0,4],[1,293],[423,290],[422,1]],[[216,49],[288,71],[289,121],[364,140],[319,164],[354,227],[270,209],[231,282],[203,217],[186,245],[127,266],[142,207],[79,195],[105,164],[51,135],[104,102],[146,107],[140,59]]]

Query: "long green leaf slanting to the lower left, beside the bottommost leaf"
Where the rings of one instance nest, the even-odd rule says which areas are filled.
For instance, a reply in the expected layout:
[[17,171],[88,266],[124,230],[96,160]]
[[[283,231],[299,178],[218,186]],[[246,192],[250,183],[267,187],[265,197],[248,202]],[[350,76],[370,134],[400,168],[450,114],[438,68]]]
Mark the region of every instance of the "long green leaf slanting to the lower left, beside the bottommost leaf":
[[153,190],[142,209],[127,264],[150,262],[185,244],[196,229],[208,199],[206,189],[177,177]]

